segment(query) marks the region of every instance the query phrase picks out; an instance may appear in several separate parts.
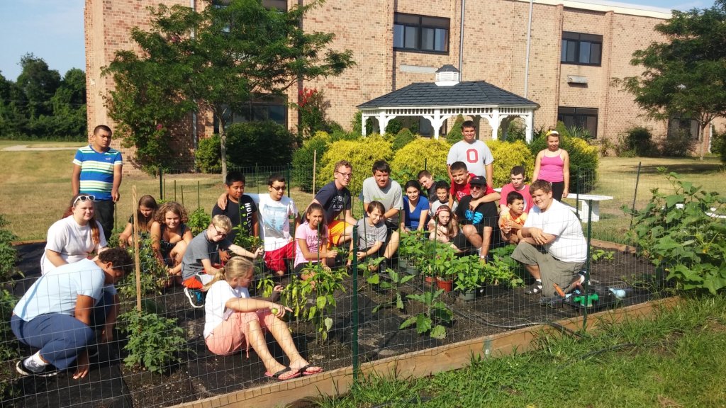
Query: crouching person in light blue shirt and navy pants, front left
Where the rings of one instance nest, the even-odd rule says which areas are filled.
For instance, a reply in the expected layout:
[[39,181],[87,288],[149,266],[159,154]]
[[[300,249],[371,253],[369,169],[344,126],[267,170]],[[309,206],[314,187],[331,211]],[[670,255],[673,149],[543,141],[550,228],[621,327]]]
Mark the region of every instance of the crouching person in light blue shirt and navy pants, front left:
[[10,327],[21,343],[40,348],[17,362],[23,375],[54,375],[74,362],[73,378],[89,372],[86,347],[94,346],[94,331],[101,343],[113,340],[118,303],[115,282],[131,271],[126,250],[105,250],[94,260],[83,259],[47,272],[17,302]]

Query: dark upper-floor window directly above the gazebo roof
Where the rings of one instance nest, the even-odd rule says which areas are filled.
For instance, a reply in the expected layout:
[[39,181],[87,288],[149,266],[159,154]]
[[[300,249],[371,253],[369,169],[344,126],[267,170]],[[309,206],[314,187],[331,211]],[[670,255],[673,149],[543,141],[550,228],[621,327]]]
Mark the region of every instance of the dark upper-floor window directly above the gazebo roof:
[[449,52],[449,19],[424,15],[393,15],[393,49]]

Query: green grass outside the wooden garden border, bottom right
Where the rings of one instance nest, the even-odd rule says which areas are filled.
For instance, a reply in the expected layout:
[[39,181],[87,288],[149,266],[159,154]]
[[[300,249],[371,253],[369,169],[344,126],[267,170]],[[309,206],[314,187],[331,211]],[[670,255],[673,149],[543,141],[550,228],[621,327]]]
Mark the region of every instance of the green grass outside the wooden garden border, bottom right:
[[[726,298],[690,298],[653,320],[418,380],[367,378],[317,407],[725,407]],[[445,357],[444,357],[445,358]]]

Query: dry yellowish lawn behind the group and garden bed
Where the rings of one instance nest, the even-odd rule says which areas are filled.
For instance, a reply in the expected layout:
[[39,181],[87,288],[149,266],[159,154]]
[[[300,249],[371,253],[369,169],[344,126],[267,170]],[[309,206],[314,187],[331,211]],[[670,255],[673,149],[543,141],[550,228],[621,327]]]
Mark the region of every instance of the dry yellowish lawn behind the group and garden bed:
[[[70,174],[73,150],[3,151],[4,147],[25,144],[33,147],[78,147],[78,142],[22,142],[0,141],[0,163],[6,168],[0,180],[0,213],[10,221],[10,229],[20,240],[42,240],[48,227],[60,218],[70,200]],[[723,192],[722,179],[726,176],[715,157],[698,160],[691,158],[602,158],[600,176],[593,191],[611,195],[614,200],[601,204],[601,221],[592,224],[592,236],[602,240],[622,242],[629,227],[621,205],[631,205],[635,193],[637,163],[643,162],[637,208],[650,198],[650,189],[669,188],[666,179],[657,173],[658,166],[666,166],[712,191]],[[166,199],[177,200],[190,210],[198,206],[209,212],[216,197],[224,191],[219,175],[171,174],[164,177]],[[176,182],[176,192],[174,184]],[[121,202],[116,211],[116,228],[123,229],[133,208],[131,187],[136,185],[139,197],[150,194],[159,197],[159,180],[151,176],[124,176],[121,184]],[[246,192],[266,192],[266,186],[248,181]],[[293,199],[302,210],[312,196],[293,189]],[[356,205],[357,209],[357,205]],[[359,211],[356,211],[359,213]]]

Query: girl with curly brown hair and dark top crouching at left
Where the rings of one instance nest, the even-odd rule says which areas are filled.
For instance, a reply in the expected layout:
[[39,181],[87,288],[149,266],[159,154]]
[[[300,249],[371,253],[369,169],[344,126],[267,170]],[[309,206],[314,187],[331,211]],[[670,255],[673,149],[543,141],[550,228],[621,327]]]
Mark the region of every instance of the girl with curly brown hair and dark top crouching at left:
[[187,210],[179,203],[169,201],[163,203],[154,213],[151,224],[151,248],[158,261],[168,267],[168,274],[181,285],[181,258],[192,242],[192,230],[185,223],[188,221]]

